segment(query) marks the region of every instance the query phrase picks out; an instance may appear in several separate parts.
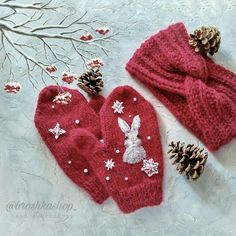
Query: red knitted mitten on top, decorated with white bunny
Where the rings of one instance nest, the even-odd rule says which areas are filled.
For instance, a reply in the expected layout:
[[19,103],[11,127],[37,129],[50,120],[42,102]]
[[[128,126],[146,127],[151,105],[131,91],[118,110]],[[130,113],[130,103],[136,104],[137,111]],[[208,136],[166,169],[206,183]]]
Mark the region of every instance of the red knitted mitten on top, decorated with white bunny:
[[[122,102],[124,107],[120,113],[112,108],[116,101]],[[118,118],[128,124],[124,126],[127,128],[126,133],[120,128]],[[74,147],[88,160],[108,193],[124,213],[160,204],[163,157],[158,121],[152,105],[131,87],[118,87],[102,106],[100,120],[104,144],[88,130],[77,129],[71,133]],[[120,120],[122,125],[125,124],[123,121]],[[143,149],[140,146],[145,150],[145,157],[141,155]],[[129,158],[124,161],[127,150],[130,156],[134,152],[137,154],[135,158],[140,155],[142,159],[131,164],[127,162],[132,159],[128,156]],[[158,163],[158,173],[149,177],[141,169],[144,160],[150,161],[151,158],[154,164]],[[110,159],[115,166],[108,169],[105,162]]]

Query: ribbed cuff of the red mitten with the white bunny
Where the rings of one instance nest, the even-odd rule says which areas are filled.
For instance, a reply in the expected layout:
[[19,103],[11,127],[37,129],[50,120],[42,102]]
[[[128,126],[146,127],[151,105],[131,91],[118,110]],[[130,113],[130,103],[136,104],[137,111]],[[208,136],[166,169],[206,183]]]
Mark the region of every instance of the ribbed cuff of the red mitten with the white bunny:
[[139,208],[159,205],[162,201],[162,186],[156,181],[142,183],[112,194],[120,210],[124,213]]

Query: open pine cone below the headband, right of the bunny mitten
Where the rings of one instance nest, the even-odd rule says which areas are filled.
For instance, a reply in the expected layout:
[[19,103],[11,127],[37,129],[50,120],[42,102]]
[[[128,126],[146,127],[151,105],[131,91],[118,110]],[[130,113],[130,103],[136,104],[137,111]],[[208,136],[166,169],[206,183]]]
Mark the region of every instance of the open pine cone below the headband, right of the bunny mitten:
[[171,142],[169,144],[171,163],[177,164],[176,170],[181,175],[185,175],[187,179],[197,180],[204,170],[205,163],[208,158],[208,153],[203,152],[204,148],[199,148],[194,144],[188,144],[185,147],[184,143]]

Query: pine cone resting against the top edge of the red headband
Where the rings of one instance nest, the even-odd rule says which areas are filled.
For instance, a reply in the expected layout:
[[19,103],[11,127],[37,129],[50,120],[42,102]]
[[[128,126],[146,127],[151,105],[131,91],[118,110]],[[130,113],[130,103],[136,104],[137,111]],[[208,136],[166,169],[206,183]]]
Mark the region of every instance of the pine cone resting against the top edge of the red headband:
[[213,55],[220,47],[220,31],[213,26],[202,26],[189,36],[189,45],[195,48],[195,52]]

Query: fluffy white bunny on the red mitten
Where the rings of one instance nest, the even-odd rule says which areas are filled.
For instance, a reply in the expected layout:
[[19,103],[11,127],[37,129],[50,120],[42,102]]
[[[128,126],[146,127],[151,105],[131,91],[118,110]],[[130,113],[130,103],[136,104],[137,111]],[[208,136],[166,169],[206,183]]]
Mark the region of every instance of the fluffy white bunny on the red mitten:
[[123,162],[135,164],[146,158],[146,151],[141,145],[141,139],[139,138],[139,128],[141,125],[139,115],[136,115],[133,118],[131,128],[127,122],[121,118],[118,118],[118,125],[121,131],[125,134],[124,145],[126,150],[123,155]]

